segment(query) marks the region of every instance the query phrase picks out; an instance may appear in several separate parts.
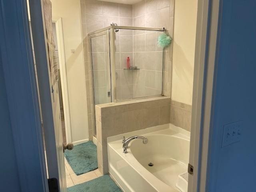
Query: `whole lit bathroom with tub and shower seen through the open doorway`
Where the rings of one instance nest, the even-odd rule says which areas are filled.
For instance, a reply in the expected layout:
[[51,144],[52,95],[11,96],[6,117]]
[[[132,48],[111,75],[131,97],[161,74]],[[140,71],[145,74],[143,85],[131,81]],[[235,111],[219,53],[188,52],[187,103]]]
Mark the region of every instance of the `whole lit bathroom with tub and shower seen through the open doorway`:
[[51,5],[68,191],[106,175],[125,192],[187,191],[197,1]]

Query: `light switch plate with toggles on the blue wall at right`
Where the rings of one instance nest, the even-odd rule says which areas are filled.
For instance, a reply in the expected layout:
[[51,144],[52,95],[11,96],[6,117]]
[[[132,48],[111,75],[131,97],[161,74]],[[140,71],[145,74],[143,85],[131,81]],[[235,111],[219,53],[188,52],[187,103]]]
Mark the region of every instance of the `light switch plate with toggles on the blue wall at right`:
[[222,147],[239,142],[242,136],[243,121],[233,122],[224,125]]

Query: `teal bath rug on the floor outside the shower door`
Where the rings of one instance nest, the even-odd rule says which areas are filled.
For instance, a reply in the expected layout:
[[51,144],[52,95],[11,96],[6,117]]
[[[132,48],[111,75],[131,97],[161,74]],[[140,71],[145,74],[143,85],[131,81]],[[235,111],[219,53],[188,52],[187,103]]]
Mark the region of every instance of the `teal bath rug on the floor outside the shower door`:
[[74,146],[64,153],[76,175],[81,175],[98,168],[97,147],[92,141]]

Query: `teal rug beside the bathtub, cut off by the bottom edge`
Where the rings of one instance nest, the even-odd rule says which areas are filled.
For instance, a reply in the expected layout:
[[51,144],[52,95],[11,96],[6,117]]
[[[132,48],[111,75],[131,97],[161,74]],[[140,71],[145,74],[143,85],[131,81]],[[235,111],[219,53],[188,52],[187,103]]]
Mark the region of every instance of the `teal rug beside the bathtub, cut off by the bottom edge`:
[[108,175],[68,188],[68,192],[122,192]]

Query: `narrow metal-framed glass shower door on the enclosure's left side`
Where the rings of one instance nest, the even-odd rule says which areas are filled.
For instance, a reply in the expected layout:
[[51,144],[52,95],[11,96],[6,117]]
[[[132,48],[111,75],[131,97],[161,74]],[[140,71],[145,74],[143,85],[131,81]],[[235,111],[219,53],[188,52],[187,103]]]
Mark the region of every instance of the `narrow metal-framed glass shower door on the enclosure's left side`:
[[111,102],[108,31],[91,37],[94,104]]

